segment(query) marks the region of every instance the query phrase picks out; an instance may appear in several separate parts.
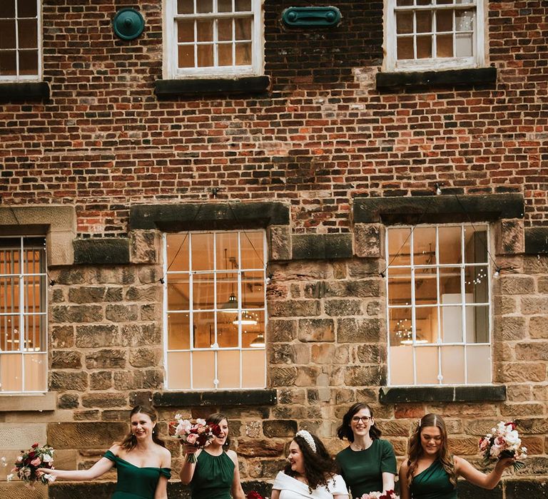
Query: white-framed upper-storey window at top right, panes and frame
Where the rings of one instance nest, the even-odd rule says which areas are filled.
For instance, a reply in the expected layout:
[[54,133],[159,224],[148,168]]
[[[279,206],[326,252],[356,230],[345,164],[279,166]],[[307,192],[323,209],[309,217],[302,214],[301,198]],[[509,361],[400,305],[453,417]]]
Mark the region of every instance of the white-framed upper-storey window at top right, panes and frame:
[[387,69],[482,66],[483,3],[484,0],[388,0]]

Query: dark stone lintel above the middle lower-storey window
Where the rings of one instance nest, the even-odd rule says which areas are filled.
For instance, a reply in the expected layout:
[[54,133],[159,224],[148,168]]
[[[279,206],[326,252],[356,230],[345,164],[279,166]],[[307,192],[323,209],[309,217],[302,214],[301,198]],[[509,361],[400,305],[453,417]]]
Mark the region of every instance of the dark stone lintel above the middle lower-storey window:
[[136,205],[129,215],[130,230],[257,229],[289,225],[289,205],[282,202],[203,202],[201,204]]

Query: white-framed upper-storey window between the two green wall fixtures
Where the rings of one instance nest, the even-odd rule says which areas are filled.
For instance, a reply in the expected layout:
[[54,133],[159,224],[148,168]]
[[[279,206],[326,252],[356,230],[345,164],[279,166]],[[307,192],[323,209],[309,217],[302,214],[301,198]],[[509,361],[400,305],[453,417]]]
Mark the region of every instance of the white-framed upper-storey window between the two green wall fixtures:
[[260,74],[260,0],[168,0],[168,77]]

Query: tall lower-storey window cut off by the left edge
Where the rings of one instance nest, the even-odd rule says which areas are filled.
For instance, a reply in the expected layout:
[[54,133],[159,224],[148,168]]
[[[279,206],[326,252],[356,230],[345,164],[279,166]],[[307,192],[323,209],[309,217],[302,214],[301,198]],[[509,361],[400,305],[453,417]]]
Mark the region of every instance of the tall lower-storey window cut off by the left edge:
[[43,238],[0,237],[0,393],[47,390]]

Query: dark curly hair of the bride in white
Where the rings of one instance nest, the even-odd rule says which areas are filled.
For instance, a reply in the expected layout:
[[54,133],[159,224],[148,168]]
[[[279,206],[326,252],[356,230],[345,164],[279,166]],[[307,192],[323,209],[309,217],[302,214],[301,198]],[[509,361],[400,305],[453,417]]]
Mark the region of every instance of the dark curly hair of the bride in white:
[[[333,478],[333,475],[337,473],[337,464],[335,460],[330,456],[327,449],[323,445],[323,442],[317,436],[310,433],[316,444],[316,451],[314,452],[305,439],[302,436],[295,436],[293,442],[295,442],[300,451],[303,453],[303,463],[305,467],[305,478],[308,482],[308,490],[313,493],[315,488],[320,485],[328,486],[329,481]],[[295,477],[298,473],[295,473],[291,469],[291,465],[288,464],[284,468],[286,475]]]

